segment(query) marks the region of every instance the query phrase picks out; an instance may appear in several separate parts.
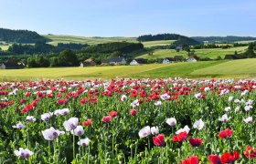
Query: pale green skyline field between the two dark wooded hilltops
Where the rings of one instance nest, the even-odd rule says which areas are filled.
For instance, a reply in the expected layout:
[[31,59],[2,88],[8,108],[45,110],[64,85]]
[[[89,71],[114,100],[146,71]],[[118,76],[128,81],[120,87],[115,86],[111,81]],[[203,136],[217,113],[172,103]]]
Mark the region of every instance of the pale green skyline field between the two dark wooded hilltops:
[[77,44],[88,44],[96,45],[110,42],[137,42],[135,38],[130,37],[84,37],[84,36],[57,36],[47,35],[45,36],[52,41],[48,44],[57,46],[58,43],[77,43]]

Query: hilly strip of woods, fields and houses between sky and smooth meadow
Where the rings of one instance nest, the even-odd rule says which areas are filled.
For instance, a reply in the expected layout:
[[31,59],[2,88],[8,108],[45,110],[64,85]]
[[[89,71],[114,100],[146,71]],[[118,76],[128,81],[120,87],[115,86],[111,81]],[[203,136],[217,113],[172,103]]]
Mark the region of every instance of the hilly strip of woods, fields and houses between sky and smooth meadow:
[[64,37],[0,28],[0,68],[134,66],[256,57],[256,38],[251,36]]

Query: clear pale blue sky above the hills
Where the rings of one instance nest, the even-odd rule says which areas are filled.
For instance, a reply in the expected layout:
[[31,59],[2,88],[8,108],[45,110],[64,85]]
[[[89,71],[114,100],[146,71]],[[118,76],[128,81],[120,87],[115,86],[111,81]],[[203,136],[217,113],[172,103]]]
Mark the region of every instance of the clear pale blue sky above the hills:
[[256,1],[0,0],[0,27],[72,36],[256,36]]

